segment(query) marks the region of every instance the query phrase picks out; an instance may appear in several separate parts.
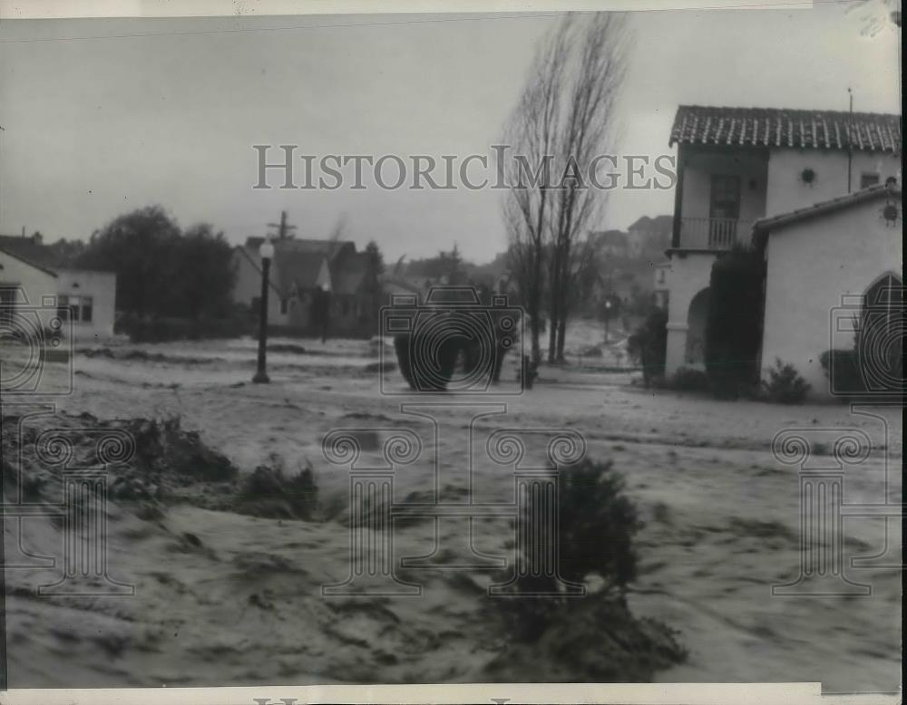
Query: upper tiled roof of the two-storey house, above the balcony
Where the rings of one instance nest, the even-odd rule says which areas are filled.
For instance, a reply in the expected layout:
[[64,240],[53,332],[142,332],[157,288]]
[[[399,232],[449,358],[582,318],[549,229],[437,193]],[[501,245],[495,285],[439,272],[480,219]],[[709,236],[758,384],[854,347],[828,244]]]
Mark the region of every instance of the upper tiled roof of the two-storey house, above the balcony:
[[681,105],[668,144],[673,146],[675,142],[900,154],[901,116],[881,112]]

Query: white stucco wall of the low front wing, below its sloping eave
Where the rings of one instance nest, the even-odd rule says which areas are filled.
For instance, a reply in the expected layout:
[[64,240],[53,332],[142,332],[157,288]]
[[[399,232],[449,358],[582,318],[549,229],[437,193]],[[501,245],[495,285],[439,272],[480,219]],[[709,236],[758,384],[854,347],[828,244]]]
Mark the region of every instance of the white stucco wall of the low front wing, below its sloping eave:
[[884,204],[877,199],[769,236],[764,377],[780,358],[812,385],[811,396],[828,397],[819,355],[833,346],[831,321],[842,296],[863,295],[886,272],[903,277],[902,222],[887,226]]

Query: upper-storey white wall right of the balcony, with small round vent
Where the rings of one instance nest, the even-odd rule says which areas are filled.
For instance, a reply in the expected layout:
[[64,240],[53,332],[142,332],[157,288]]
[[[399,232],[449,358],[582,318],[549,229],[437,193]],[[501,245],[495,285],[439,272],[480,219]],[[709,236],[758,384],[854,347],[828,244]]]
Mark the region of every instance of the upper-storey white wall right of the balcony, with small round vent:
[[[813,169],[815,179],[807,185],[801,179],[804,169]],[[879,183],[898,177],[900,160],[881,152],[853,151],[851,190],[860,188],[863,173],[878,173]],[[900,183],[901,179],[898,179]],[[768,158],[766,216],[777,216],[797,208],[847,193],[847,152],[838,150],[772,150]]]

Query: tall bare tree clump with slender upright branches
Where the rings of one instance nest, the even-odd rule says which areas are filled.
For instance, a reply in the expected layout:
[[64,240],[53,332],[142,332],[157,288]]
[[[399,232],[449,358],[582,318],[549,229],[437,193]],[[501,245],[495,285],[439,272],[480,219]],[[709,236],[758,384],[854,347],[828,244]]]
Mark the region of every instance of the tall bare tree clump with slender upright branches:
[[567,15],[543,40],[504,132],[514,154],[502,167],[511,187],[504,220],[535,360],[545,281],[548,360],[563,358],[577,275],[589,262],[578,249],[580,234],[606,194],[590,184],[590,169],[615,136],[626,34],[622,14]]

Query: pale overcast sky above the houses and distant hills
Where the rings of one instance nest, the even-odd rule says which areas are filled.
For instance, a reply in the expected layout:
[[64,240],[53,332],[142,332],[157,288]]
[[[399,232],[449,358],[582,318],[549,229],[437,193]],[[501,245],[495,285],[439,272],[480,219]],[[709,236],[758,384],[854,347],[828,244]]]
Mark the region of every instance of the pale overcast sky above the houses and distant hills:
[[[338,217],[390,259],[505,246],[501,192],[255,190],[253,144],[303,153],[490,154],[551,16],[353,15],[0,24],[0,232],[87,238],[161,204],[232,242],[288,210],[299,237]],[[892,28],[843,4],[646,12],[619,107],[619,154],[670,153],[679,103],[900,111]],[[277,155],[275,155],[276,157]],[[277,183],[276,177],[273,178]],[[670,191],[612,192],[596,227],[672,211]]]

